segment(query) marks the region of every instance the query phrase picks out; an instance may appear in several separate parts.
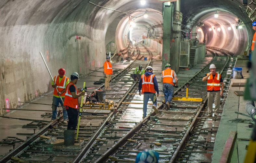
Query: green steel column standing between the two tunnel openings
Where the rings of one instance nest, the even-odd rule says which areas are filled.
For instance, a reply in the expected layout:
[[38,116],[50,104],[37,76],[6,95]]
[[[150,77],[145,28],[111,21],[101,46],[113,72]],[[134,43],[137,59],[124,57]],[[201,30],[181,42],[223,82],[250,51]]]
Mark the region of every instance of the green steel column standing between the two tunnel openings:
[[171,62],[171,41],[173,27],[173,4],[163,8],[163,52],[162,52],[162,70],[165,64]]

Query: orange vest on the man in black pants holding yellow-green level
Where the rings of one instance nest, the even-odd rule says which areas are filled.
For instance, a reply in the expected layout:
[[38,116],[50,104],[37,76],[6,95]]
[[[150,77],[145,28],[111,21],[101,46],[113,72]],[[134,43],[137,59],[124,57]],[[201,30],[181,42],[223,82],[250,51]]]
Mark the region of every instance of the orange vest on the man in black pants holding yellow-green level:
[[[72,97],[70,91],[69,91],[69,87],[70,87],[71,85],[75,86],[75,85],[74,85],[73,83],[71,83],[71,82],[67,85],[67,89],[66,89],[66,93],[65,93],[64,106],[69,106],[69,107],[71,107],[71,108],[78,109],[78,100],[77,100],[77,98],[74,99],[74,98]],[[75,86],[75,88],[76,88],[76,86]],[[77,93],[78,93],[78,91],[77,91],[77,88],[76,88],[76,94],[77,94]],[[67,109],[67,108],[66,108],[66,109]]]

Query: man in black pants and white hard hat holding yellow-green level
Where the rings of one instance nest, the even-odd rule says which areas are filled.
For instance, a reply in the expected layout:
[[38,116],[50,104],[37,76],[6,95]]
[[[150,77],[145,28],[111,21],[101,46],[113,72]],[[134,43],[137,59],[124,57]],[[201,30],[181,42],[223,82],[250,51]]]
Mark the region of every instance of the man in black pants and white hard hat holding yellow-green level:
[[78,116],[78,98],[83,96],[85,92],[78,95],[82,88],[77,89],[75,84],[79,80],[79,75],[77,72],[73,72],[70,76],[70,83],[67,85],[64,106],[69,116],[68,130],[75,130],[77,126],[77,116]]

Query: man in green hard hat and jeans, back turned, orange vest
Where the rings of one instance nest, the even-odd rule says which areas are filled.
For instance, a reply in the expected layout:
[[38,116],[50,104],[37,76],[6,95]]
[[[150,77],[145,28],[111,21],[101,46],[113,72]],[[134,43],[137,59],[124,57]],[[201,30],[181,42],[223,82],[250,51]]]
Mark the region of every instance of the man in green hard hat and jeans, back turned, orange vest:
[[167,109],[170,109],[170,102],[173,98],[173,78],[175,80],[175,87],[178,87],[178,79],[174,70],[171,69],[170,64],[165,65],[165,70],[162,71],[163,78],[163,93],[164,93],[164,101]]

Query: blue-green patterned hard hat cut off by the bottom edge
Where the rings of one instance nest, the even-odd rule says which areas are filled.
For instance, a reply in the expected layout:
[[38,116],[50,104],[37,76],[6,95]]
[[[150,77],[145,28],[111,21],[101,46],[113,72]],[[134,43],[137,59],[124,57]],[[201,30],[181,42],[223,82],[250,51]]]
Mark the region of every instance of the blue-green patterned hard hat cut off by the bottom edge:
[[159,153],[154,150],[144,150],[136,156],[135,163],[158,163]]

